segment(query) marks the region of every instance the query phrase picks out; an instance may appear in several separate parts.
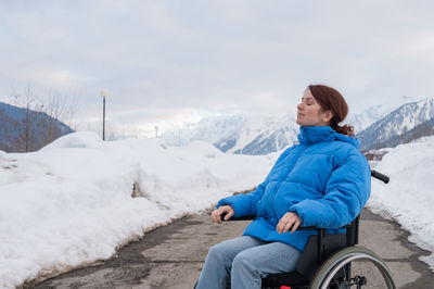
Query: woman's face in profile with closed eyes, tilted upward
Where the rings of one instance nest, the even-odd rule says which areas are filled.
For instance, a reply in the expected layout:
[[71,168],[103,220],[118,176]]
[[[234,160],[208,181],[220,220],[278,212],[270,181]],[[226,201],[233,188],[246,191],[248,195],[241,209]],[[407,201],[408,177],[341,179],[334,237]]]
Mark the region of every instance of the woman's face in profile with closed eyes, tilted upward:
[[333,114],[324,112],[321,105],[315,100],[309,89],[306,89],[302,103],[297,105],[297,121],[301,126],[326,126],[330,125]]

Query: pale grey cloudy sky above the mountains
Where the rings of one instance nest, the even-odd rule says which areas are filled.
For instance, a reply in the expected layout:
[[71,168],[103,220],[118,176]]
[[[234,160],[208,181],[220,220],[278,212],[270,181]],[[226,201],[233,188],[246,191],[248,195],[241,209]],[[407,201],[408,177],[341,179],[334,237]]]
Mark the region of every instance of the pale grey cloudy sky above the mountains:
[[353,113],[399,105],[434,95],[433,3],[1,1],[0,101],[26,87],[75,98],[86,129],[106,89],[108,122],[136,133],[281,115],[311,83],[337,88]]

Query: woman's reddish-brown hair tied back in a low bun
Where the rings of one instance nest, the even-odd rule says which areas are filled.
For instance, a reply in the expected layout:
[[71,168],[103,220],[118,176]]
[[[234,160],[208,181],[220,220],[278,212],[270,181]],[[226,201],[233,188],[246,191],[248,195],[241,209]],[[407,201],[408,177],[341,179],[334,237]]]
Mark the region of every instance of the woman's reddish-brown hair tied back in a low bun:
[[333,117],[330,120],[330,127],[336,130],[336,133],[353,137],[354,127],[352,125],[339,125],[348,114],[348,104],[346,104],[344,97],[330,86],[309,85],[307,88],[319,105],[321,105],[322,110],[333,113]]

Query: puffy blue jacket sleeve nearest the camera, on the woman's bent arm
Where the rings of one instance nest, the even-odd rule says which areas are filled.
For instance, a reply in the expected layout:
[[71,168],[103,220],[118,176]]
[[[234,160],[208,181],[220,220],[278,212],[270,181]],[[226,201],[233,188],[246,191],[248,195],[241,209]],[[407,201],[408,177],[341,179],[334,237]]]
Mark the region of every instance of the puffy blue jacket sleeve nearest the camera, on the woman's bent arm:
[[371,193],[370,166],[360,152],[350,153],[332,172],[326,194],[318,200],[304,200],[290,208],[303,226],[339,228],[355,219]]

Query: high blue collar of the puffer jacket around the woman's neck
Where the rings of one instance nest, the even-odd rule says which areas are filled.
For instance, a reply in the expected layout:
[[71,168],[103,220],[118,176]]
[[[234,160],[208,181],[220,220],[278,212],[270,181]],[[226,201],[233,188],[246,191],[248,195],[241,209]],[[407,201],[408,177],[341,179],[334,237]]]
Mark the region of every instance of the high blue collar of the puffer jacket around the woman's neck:
[[344,141],[356,149],[359,149],[360,142],[356,138],[352,138],[348,136],[344,136],[342,134],[336,133],[330,126],[301,126],[299,127],[299,135],[298,141],[302,144],[314,144],[318,142],[326,142],[326,141]]

